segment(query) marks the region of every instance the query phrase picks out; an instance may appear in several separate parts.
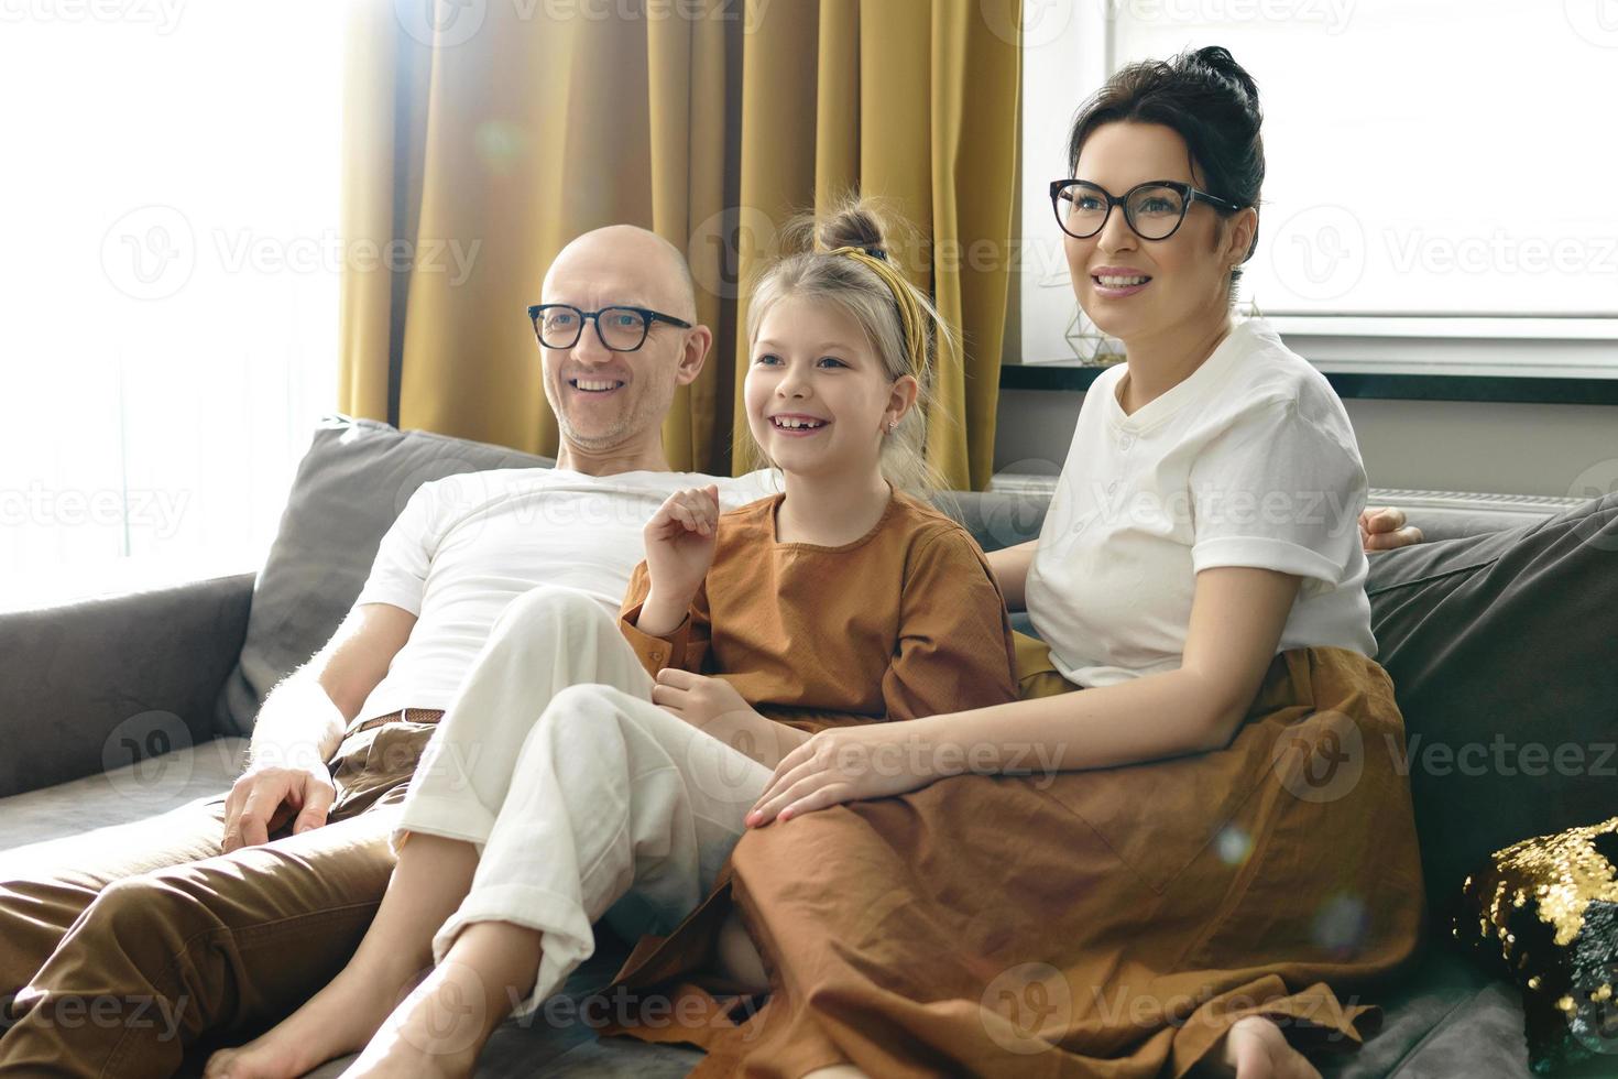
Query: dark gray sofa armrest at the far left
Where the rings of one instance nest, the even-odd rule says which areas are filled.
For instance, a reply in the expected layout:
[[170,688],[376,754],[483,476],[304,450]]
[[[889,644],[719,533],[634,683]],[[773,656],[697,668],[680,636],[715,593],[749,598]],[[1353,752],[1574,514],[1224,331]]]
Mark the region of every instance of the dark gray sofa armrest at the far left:
[[0,615],[0,798],[210,741],[252,581]]

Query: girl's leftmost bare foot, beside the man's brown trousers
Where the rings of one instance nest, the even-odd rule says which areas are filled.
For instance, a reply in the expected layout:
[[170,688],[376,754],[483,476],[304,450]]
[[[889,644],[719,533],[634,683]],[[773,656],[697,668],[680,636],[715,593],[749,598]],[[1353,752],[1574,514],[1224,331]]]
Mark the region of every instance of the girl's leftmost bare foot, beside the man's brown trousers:
[[[409,980],[414,979],[404,985]],[[264,1035],[209,1056],[204,1079],[293,1079],[359,1051],[382,1027],[404,985],[388,993],[372,974],[345,969]]]

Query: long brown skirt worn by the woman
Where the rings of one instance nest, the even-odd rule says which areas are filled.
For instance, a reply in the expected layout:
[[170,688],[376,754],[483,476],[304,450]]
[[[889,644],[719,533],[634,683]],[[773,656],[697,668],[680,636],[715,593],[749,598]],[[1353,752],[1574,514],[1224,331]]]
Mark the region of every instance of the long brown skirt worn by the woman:
[[[1071,689],[1032,639],[1018,658],[1024,696]],[[1354,1048],[1380,1011],[1336,992],[1422,924],[1404,760],[1387,673],[1296,649],[1222,751],[955,776],[751,830],[634,950],[602,1032],[699,1045],[693,1076],[781,1079],[1178,1077],[1247,1014]],[[714,972],[731,904],[769,996]]]

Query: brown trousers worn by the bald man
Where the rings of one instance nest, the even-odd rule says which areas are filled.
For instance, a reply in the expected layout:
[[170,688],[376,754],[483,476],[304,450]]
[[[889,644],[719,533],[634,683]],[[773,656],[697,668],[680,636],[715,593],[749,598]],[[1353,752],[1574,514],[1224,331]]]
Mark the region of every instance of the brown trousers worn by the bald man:
[[[348,963],[393,872],[388,835],[442,713],[356,723],[328,823],[225,854],[225,799],[0,856],[0,1073],[170,1076]],[[24,988],[26,987],[26,988]]]

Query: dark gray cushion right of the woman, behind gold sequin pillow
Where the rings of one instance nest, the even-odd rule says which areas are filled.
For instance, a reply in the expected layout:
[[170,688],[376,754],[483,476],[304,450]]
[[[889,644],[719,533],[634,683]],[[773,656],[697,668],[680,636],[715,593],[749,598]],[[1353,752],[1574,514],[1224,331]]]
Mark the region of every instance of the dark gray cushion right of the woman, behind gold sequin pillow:
[[1387,552],[1366,590],[1445,932],[1490,853],[1618,806],[1618,495]]

